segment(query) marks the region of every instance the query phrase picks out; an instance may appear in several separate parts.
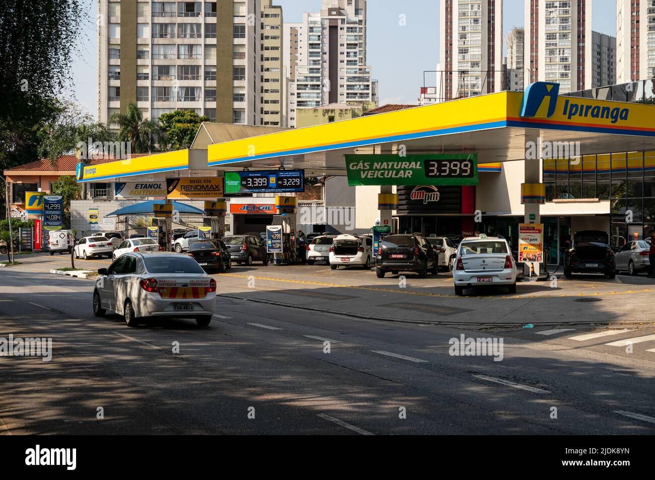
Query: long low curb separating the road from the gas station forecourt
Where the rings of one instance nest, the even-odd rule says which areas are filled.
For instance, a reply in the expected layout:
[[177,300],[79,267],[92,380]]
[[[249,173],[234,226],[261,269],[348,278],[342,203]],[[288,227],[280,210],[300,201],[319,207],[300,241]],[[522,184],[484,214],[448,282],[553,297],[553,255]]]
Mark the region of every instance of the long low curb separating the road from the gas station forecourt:
[[[376,320],[378,322],[415,323],[417,325],[457,325],[460,327],[470,326],[470,327],[486,327],[486,328],[522,327],[526,323],[526,322],[486,323],[486,322],[447,322],[447,321],[441,322],[441,321],[431,321],[431,320],[411,320],[407,318],[386,318],[386,317],[375,317],[370,315],[358,314],[353,312],[339,312],[337,310],[326,310],[325,308],[316,308],[312,306],[293,305],[292,303],[275,302],[272,300],[241,297],[240,295],[233,295],[231,293],[221,293],[220,295],[217,295],[217,297],[227,297],[231,299],[246,300],[255,303],[265,303],[267,305],[286,306],[288,308],[297,308],[298,310],[307,310],[310,312],[320,312],[320,313],[331,314],[331,315],[363,318],[364,320]],[[540,327],[543,325],[544,327],[546,327],[546,326],[553,326],[553,325],[614,325],[614,323],[616,322],[604,323],[604,322],[598,322],[597,320],[590,320],[589,322],[562,322],[560,320],[559,322],[535,323],[534,326]],[[643,322],[640,322],[639,324],[641,323]],[[622,324],[633,325],[633,323],[622,323]]]

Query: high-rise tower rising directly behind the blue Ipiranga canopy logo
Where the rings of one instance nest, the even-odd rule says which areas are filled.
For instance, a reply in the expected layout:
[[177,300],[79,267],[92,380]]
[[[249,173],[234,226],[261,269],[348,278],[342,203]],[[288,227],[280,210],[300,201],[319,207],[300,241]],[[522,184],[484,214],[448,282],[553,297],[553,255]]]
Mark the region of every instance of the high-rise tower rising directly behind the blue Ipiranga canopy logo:
[[525,84],[591,88],[591,0],[525,0]]

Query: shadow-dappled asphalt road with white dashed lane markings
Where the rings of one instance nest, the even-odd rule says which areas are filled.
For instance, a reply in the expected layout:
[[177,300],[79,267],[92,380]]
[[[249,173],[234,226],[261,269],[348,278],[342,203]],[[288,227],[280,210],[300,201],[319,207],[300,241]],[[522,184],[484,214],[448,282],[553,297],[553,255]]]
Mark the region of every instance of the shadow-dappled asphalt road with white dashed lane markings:
[[[129,328],[92,315],[90,280],[36,262],[0,269],[0,337],[50,337],[52,360],[0,356],[0,434],[655,433],[653,325],[476,329],[219,298],[207,328]],[[502,339],[502,360],[452,356],[460,335]]]

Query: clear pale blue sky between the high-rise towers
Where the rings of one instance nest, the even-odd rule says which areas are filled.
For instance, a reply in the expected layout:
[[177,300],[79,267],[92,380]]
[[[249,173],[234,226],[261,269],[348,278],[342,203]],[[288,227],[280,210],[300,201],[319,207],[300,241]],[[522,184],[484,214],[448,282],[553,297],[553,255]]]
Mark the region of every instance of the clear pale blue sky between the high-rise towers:
[[[73,62],[69,94],[96,115],[96,0],[85,0],[83,37]],[[496,0],[498,1],[498,0]],[[299,22],[303,12],[318,12],[321,0],[277,0],[285,22]],[[616,35],[616,1],[593,0],[591,28]],[[419,97],[423,71],[439,62],[439,0],[369,0],[367,60],[380,82],[380,104],[411,103]],[[523,26],[523,0],[504,0],[503,30]],[[430,77],[426,83],[431,84]]]

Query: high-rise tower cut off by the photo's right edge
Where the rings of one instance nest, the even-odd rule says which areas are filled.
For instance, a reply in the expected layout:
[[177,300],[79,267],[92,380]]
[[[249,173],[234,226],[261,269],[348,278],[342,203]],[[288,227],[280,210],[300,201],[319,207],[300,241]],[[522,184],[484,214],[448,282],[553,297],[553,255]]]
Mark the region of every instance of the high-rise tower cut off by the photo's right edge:
[[616,82],[655,77],[655,1],[616,0]]

